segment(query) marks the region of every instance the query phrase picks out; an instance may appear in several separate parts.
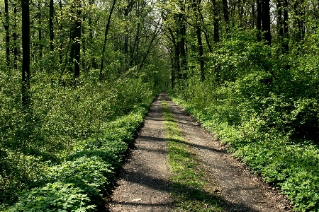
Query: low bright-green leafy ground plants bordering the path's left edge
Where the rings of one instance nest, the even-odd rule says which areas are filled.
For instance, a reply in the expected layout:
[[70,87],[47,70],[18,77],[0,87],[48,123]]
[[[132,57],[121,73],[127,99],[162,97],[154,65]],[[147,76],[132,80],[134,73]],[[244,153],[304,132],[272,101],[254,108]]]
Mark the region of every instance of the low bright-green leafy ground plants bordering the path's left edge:
[[104,123],[99,136],[77,142],[72,151],[61,156],[61,163],[47,163],[28,189],[18,194],[16,204],[5,211],[105,211],[103,197],[151,98],[123,117]]

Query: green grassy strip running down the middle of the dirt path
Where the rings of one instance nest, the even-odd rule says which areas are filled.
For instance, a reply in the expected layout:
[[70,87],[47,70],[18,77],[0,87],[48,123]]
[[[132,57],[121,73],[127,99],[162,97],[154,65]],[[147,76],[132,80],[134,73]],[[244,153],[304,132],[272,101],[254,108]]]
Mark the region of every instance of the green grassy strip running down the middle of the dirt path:
[[208,182],[203,179],[203,172],[198,170],[194,153],[184,143],[167,102],[162,101],[162,106],[175,211],[223,211],[220,199],[207,191]]

